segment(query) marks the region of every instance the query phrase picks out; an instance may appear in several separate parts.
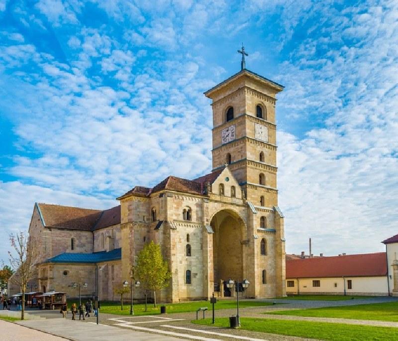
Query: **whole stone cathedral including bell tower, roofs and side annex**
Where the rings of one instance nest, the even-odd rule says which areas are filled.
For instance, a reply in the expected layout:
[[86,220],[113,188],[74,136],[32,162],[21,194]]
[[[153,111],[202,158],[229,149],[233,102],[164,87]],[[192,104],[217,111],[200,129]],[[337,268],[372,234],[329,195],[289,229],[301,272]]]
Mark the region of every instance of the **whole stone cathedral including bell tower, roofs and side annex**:
[[[76,297],[71,283],[87,283],[83,296],[98,290],[100,300],[117,300],[115,285],[130,280],[137,253],[153,240],[172,273],[158,293],[163,302],[207,299],[213,292],[233,296],[225,285],[229,278],[249,280],[245,297],[285,296],[275,120],[282,90],[247,70],[243,59],[240,72],[204,93],[213,115],[209,174],[135,186],[105,211],[36,203],[29,242],[39,254],[28,291]],[[135,299],[143,297],[141,290]]]

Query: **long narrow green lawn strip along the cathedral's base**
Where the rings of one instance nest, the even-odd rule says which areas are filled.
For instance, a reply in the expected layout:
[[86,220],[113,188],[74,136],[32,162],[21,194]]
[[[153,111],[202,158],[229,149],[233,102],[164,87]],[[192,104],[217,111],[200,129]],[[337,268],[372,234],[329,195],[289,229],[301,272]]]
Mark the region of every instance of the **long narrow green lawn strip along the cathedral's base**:
[[[74,301],[77,306],[79,306],[79,301]],[[68,309],[72,305],[72,301],[68,301]],[[84,301],[82,300],[82,303]],[[239,301],[239,307],[258,307],[258,306],[269,306],[272,303],[268,302],[258,302],[255,300],[250,301]],[[148,304],[148,311],[145,312],[144,304],[134,304],[134,315],[155,315],[160,314],[160,306],[166,306],[167,313],[187,313],[187,312],[196,312],[198,308],[207,307],[208,310],[211,310],[211,304],[209,301],[192,301],[185,303],[173,303],[173,304],[158,304],[156,308],[153,307],[153,304]],[[236,300],[219,300],[214,305],[214,309],[228,309],[228,308],[236,308]],[[100,302],[100,314],[116,314],[116,315],[129,315],[130,314],[130,305],[124,304],[123,310],[120,309],[120,303],[114,302]]]

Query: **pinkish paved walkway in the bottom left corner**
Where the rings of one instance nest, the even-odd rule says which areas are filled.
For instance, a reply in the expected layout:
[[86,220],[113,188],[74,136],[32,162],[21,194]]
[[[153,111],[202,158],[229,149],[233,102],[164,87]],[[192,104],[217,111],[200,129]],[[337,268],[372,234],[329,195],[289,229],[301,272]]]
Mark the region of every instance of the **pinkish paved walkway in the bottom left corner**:
[[0,331],[1,341],[68,341],[64,338],[39,331],[32,331],[29,328],[2,320],[0,320]]

